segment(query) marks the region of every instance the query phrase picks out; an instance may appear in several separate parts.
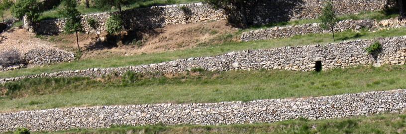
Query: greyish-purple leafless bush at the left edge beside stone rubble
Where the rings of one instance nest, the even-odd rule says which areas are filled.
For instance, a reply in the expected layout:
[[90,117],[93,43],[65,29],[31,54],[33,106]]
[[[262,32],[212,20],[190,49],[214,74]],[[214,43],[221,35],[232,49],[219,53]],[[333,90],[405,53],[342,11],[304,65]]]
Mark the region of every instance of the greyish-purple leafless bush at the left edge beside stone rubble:
[[0,65],[11,66],[21,62],[20,53],[16,50],[9,50],[0,53]]

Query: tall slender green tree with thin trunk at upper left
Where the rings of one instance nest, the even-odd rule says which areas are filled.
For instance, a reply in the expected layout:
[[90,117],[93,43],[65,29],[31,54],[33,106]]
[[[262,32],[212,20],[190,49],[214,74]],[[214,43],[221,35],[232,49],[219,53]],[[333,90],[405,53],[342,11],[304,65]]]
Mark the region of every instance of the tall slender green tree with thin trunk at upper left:
[[64,30],[68,34],[76,33],[76,43],[78,50],[81,51],[79,46],[78,32],[83,31],[81,13],[76,9],[76,0],[65,0],[64,6],[59,13],[65,18]]

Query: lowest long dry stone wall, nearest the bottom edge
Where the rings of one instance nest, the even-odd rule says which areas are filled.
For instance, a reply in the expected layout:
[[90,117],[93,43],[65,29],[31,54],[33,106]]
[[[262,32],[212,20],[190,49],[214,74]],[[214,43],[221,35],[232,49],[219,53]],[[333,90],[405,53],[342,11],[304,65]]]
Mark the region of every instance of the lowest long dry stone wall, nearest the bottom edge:
[[0,132],[106,128],[112,125],[253,124],[404,112],[406,90],[250,102],[153,104],[48,109],[0,114]]

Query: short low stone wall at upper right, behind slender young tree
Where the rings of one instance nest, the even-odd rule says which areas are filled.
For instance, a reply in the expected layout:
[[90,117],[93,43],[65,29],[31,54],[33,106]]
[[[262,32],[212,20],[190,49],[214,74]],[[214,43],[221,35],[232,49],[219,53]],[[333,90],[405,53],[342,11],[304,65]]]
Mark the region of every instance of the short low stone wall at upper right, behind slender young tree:
[[[388,28],[406,27],[406,21],[398,19],[388,19],[376,22],[375,20],[343,20],[337,23],[334,31],[343,32],[346,30],[382,30]],[[297,26],[273,27],[268,29],[253,30],[244,32],[241,41],[249,42],[255,40],[270,40],[276,38],[288,38],[296,35],[331,33],[331,30],[324,30],[320,23],[304,24]]]

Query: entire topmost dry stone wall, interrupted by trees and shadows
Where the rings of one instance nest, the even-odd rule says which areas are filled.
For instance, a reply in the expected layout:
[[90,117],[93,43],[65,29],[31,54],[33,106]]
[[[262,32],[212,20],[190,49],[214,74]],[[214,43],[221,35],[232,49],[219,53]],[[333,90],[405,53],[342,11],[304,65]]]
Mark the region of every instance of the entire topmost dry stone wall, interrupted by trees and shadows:
[[[292,19],[316,18],[325,0],[262,0],[249,3],[248,22],[266,24],[270,22],[289,21]],[[353,14],[361,11],[383,10],[393,5],[392,0],[333,0],[338,14]],[[117,13],[117,12],[113,12]],[[104,31],[105,20],[110,13],[83,15],[86,32],[94,32],[87,25],[87,18],[94,17],[101,22],[100,30]],[[153,6],[124,11],[125,23],[129,28],[144,30],[162,27],[168,24],[185,24],[208,22],[226,19],[223,10],[216,10],[205,3]],[[63,31],[63,19],[41,21],[36,32],[55,34]],[[30,23],[25,23],[30,24]]]

